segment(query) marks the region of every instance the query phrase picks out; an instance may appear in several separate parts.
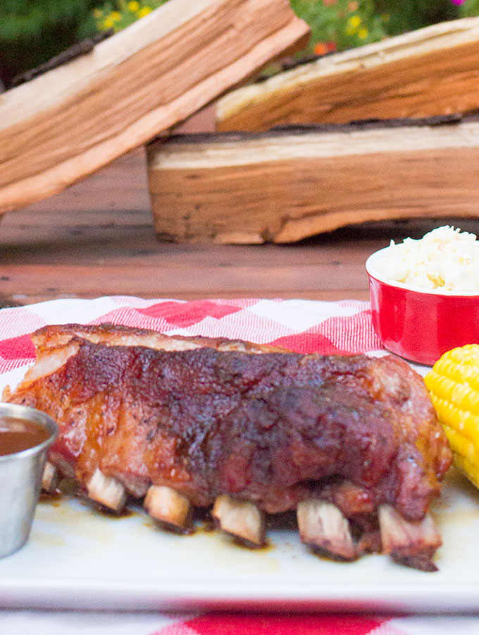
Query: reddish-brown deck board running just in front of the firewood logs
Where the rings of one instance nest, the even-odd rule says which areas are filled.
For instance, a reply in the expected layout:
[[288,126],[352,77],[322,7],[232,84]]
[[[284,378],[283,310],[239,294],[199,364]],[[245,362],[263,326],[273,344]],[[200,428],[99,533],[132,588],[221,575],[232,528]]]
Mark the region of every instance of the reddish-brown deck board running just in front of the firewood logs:
[[[6,223],[5,223],[6,224]],[[28,228],[28,232],[26,229]],[[39,226],[39,231],[42,231]],[[78,229],[77,229],[78,228]],[[206,245],[201,243],[161,243],[151,236],[151,230],[141,224],[137,226],[122,227],[119,224],[92,226],[87,231],[87,225],[80,223],[68,228],[57,229],[54,238],[49,229],[42,231],[42,241],[33,241],[32,236],[37,234],[34,225],[22,224],[20,229],[4,228],[4,233],[10,236],[18,236],[27,233],[20,243],[0,243],[1,267],[7,265],[88,265],[101,267],[112,265],[121,267],[131,264],[135,267],[160,267],[161,270],[182,270],[189,267],[199,267],[211,270],[228,270],[242,262],[251,260],[251,271],[264,270],[265,267],[327,267],[334,266],[342,270],[344,256],[338,253],[337,247],[328,243],[321,243],[318,249],[316,241],[311,246],[301,245],[301,248],[278,248],[278,246],[261,246],[251,250],[250,246],[233,245]],[[95,240],[95,233],[97,239]],[[66,237],[63,236],[66,234]],[[68,234],[68,235],[67,235]],[[60,237],[61,236],[61,237]],[[387,246],[387,238],[383,239],[383,246]],[[347,253],[348,265],[354,267],[363,264],[364,250],[375,248],[375,242],[362,241],[360,247],[354,243],[349,245]]]

